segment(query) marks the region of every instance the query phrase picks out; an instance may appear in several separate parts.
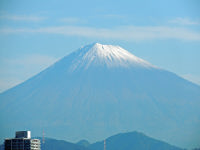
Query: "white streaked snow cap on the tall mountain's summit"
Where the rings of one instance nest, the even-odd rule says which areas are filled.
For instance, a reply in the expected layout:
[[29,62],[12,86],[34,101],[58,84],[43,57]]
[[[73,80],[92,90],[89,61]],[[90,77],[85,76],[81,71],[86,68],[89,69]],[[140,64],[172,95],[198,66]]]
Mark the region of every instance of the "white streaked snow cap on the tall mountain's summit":
[[138,58],[127,50],[113,45],[99,43],[87,45],[75,52],[71,70],[88,69],[94,66],[110,67],[153,67],[145,60]]

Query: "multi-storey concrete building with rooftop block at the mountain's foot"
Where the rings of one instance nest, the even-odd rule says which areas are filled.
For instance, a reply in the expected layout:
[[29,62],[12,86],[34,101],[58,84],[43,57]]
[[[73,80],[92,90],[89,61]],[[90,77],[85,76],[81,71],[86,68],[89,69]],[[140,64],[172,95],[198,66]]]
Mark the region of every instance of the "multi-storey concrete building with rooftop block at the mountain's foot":
[[40,140],[31,139],[31,131],[18,131],[15,138],[5,139],[5,150],[41,150]]

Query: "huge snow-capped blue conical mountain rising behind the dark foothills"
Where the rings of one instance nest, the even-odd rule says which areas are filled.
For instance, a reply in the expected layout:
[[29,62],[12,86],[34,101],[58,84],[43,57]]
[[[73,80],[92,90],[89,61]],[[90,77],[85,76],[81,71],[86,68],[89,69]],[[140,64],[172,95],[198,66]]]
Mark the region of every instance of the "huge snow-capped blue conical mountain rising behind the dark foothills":
[[87,45],[0,94],[0,135],[96,141],[141,131],[200,146],[200,86],[119,46]]

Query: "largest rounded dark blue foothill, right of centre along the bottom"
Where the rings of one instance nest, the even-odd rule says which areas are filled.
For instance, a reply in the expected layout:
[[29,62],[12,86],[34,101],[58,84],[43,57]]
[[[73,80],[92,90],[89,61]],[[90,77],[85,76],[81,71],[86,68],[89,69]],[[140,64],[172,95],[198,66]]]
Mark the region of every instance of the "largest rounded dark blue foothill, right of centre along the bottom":
[[[89,146],[92,150],[103,150],[104,141]],[[108,150],[182,150],[165,142],[150,138],[142,133],[129,132],[111,136],[106,139]]]

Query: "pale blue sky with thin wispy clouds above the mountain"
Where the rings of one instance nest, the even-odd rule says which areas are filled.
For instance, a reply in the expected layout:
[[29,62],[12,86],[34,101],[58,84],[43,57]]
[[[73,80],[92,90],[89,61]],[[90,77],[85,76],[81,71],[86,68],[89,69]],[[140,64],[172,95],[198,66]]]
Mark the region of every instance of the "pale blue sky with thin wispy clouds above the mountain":
[[94,42],[200,85],[199,8],[198,0],[1,0],[0,92]]

